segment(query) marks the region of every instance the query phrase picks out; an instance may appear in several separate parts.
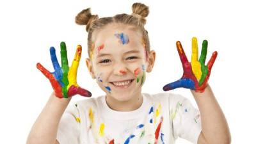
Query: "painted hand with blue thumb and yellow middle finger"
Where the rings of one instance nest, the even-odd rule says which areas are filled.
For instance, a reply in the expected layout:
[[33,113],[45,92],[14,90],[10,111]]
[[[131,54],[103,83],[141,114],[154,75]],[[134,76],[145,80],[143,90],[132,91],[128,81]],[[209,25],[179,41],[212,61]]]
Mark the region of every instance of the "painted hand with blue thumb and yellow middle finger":
[[175,88],[189,88],[195,92],[204,92],[207,86],[207,81],[211,74],[212,65],[217,58],[218,52],[213,52],[211,59],[205,65],[205,58],[207,54],[207,40],[202,44],[201,56],[198,60],[198,46],[196,38],[192,38],[192,56],[191,63],[189,63],[186,54],[179,41],[176,42],[177,51],[179,52],[180,61],[183,67],[183,76],[173,83],[166,84],[163,87],[164,91],[173,90]]

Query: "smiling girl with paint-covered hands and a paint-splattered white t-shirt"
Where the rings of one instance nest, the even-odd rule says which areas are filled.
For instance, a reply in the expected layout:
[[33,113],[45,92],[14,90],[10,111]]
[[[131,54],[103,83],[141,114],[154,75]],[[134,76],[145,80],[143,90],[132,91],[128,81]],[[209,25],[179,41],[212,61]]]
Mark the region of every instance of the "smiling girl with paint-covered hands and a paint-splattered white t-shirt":
[[184,74],[163,88],[189,88],[199,111],[180,95],[141,93],[146,72],[152,71],[156,59],[144,28],[148,13],[148,6],[134,3],[132,15],[99,19],[90,8],[77,15],[76,23],[86,25],[88,31],[86,65],[106,95],[67,108],[73,95],[91,96],[76,83],[81,45],[70,68],[65,43],[61,43],[61,67],[51,47],[55,72],[50,73],[40,63],[37,67],[51,81],[54,93],[33,125],[27,143],[153,144],[175,143],[178,137],[191,143],[230,143],[225,116],[207,84],[217,56],[214,52],[209,63],[204,64],[207,41],[198,60],[197,41],[193,38],[191,63],[177,42]]

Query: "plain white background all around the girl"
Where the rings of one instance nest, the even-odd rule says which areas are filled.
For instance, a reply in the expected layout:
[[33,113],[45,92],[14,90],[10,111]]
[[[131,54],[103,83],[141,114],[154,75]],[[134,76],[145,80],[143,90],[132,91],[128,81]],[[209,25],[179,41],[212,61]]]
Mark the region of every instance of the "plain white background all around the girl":
[[[40,62],[53,70],[49,47],[68,47],[71,63],[76,45],[83,46],[77,78],[93,97],[104,94],[86,69],[87,33],[74,19],[91,7],[99,17],[131,13],[136,1],[1,1],[0,2],[0,143],[25,143],[31,126],[52,92],[51,84],[36,69]],[[218,51],[209,84],[227,118],[232,143],[255,141],[255,38],[256,4],[253,1],[140,1],[150,7],[146,29],[157,53],[154,70],[143,92],[163,92],[162,87],[180,78],[182,65],[175,42],[180,40],[188,58],[191,38],[209,42],[208,56]],[[196,106],[189,90],[177,89]],[[84,99],[74,97],[75,100]],[[177,140],[177,143],[189,143]]]

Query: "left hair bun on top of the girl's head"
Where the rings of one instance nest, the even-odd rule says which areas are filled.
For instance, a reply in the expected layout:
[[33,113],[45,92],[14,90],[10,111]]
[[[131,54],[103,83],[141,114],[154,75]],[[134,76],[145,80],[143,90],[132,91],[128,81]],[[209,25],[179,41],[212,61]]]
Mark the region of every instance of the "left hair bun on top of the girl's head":
[[76,15],[76,24],[86,25],[86,31],[88,31],[92,22],[98,19],[98,15],[92,15],[91,8],[87,8]]

